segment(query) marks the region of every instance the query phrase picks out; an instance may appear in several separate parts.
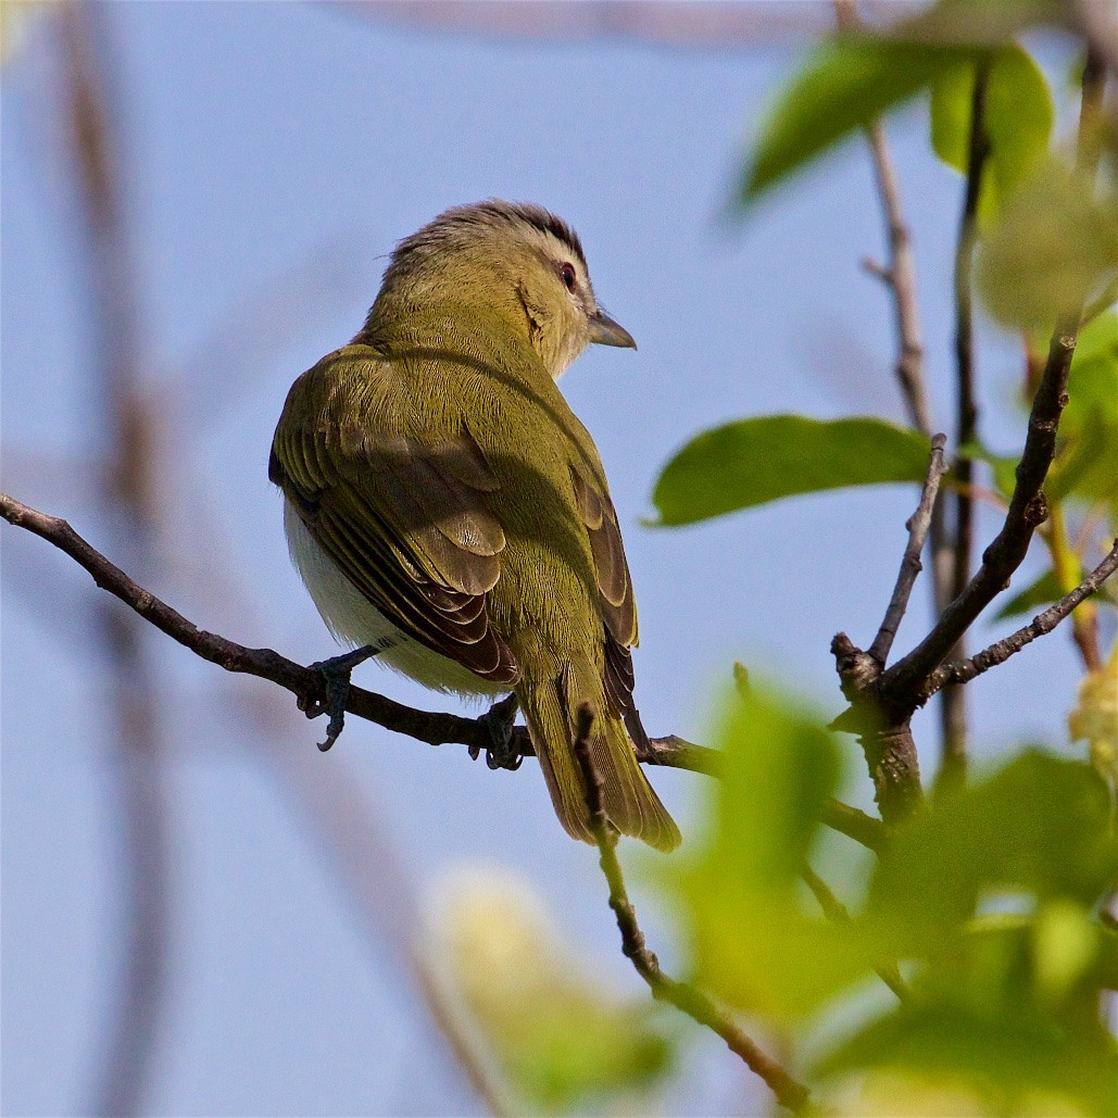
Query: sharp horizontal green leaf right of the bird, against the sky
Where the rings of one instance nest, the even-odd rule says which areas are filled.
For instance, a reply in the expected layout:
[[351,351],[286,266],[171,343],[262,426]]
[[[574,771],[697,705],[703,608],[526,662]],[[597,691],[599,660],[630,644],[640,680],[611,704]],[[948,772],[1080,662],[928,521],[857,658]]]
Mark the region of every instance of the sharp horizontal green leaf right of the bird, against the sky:
[[780,498],[846,485],[919,482],[928,440],[881,419],[758,416],[703,432],[664,466],[662,525],[691,524]]

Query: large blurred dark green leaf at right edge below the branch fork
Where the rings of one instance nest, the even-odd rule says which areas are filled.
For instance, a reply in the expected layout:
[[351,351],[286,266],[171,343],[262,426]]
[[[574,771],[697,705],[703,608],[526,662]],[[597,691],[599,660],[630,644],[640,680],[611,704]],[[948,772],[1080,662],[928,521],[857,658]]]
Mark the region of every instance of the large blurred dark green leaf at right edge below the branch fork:
[[1092,904],[1116,872],[1098,774],[1029,751],[902,828],[878,864],[869,911],[898,955],[922,955],[941,948],[991,890]]

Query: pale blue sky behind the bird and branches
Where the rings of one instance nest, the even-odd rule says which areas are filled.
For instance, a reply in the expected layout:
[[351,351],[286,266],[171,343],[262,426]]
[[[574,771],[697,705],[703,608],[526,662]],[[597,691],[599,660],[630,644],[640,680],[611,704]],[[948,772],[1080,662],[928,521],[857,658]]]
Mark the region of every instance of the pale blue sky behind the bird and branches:
[[[159,448],[174,464],[167,563],[150,589],[248,645],[304,663],[337,651],[288,562],[266,477],[287,387],[360,326],[398,239],[451,205],[532,200],[578,229],[601,302],[639,347],[588,352],[562,388],[598,443],[625,534],[646,726],[703,740],[736,660],[837,713],[830,641],[839,629],[872,637],[911,487],[781,502],[683,530],[642,523],[660,467],[704,427],[776,411],[901,417],[890,306],[860,263],[882,252],[862,146],[746,218],[730,212],[748,138],[799,47],[540,44],[326,4],[135,2],[104,17],[145,369]],[[4,489],[107,547],[88,500],[100,430],[70,183],[53,145],[48,32],[32,27],[2,73]],[[1049,47],[1059,75],[1059,45]],[[926,134],[919,108],[890,122],[945,427],[961,200]],[[1012,402],[1020,359],[993,328],[980,330],[983,428],[1008,451],[1022,426]],[[983,538],[995,528],[984,511]],[[106,678],[69,608],[86,600],[84,576],[40,540],[7,527],[0,540],[2,1107],[82,1114],[120,963]],[[1020,585],[1039,569],[1034,556]],[[926,599],[921,586],[899,650],[927,626]],[[1005,632],[977,631],[983,641]],[[617,950],[596,858],[555,822],[534,766],[493,774],[458,747],[357,720],[322,756],[323,728],[285,692],[224,678],[154,633],[148,647],[168,727],[172,934],[146,1110],[477,1111],[401,967],[421,940],[427,898],[462,866],[522,874],[608,980],[643,996]],[[356,679],[416,705],[448,702],[376,664]],[[1077,681],[1064,633],[976,680],[977,751],[1063,746]],[[932,771],[932,717],[916,731]],[[686,834],[704,778],[652,778]],[[868,804],[868,781],[850,795]],[[353,844],[360,856],[347,863],[338,852]],[[653,855],[624,856],[654,946],[672,963],[670,920],[646,885]],[[364,902],[354,900],[358,863]],[[406,884],[394,892],[396,875]],[[686,1038],[692,1061],[666,1112],[762,1105],[717,1042]]]

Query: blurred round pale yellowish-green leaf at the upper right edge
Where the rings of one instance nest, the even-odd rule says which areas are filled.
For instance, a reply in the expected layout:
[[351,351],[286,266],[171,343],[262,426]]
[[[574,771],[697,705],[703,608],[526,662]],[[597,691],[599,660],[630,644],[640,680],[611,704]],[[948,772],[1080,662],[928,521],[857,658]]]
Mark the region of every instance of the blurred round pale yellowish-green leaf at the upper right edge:
[[1118,272],[1118,199],[1045,161],[1004,201],[978,252],[978,291],[999,322],[1050,330]]

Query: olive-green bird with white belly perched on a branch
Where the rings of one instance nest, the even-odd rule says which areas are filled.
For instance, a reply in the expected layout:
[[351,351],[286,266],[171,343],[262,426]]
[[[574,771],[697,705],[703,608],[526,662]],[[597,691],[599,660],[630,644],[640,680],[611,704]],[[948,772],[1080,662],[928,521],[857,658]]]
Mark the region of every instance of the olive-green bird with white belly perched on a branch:
[[358,650],[324,662],[347,686],[376,655],[435,691],[508,697],[559,821],[594,842],[574,748],[588,708],[606,816],[671,851],[680,831],[635,751],[648,739],[617,512],[557,385],[590,343],[636,348],[566,221],[499,199],[451,208],[397,245],[353,340],[292,385],[268,475],[296,570]]

